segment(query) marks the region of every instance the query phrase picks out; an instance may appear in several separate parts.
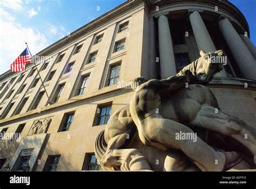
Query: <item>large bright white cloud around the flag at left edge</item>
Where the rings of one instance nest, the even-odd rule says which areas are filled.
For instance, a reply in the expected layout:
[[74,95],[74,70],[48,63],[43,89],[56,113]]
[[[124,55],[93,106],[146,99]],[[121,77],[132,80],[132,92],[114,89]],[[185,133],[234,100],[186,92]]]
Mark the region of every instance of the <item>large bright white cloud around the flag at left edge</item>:
[[43,33],[15,22],[3,9],[0,9],[0,27],[0,74],[10,70],[10,64],[26,48],[25,42],[33,55],[49,46]]

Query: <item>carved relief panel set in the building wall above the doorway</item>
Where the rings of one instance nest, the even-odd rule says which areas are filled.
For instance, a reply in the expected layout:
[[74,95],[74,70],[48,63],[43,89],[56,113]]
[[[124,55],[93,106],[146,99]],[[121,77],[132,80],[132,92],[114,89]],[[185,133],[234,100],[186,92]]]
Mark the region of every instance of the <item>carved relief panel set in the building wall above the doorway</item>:
[[28,135],[46,133],[50,125],[50,122],[51,122],[51,118],[36,120],[31,126],[31,129]]

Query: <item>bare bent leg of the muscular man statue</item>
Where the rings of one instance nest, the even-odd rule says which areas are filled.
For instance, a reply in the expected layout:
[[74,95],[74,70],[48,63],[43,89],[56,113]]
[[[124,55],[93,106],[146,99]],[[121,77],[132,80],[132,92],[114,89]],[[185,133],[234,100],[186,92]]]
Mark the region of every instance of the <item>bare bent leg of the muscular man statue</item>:
[[190,135],[194,133],[183,124],[154,115],[144,119],[138,126],[138,131],[145,145],[181,150],[202,171],[224,170],[226,157],[223,152],[214,151],[199,137],[196,140],[177,138],[180,132]]

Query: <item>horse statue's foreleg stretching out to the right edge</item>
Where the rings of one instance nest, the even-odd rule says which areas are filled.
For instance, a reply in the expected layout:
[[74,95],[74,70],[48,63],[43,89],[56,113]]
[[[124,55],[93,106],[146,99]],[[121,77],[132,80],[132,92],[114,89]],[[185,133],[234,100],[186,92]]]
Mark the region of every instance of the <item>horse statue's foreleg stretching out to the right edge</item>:
[[251,151],[256,163],[256,130],[242,122],[238,117],[223,113],[215,107],[202,105],[190,125],[201,126],[207,130],[217,131],[234,138]]

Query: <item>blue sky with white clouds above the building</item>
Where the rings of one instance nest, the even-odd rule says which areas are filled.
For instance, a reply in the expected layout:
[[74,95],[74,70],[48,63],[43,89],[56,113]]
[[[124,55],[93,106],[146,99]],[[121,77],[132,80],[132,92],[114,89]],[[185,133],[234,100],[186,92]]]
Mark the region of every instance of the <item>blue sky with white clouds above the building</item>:
[[[0,74],[25,49],[35,54],[126,0],[0,0]],[[256,0],[231,0],[256,44]]]

